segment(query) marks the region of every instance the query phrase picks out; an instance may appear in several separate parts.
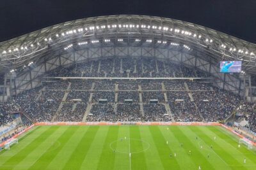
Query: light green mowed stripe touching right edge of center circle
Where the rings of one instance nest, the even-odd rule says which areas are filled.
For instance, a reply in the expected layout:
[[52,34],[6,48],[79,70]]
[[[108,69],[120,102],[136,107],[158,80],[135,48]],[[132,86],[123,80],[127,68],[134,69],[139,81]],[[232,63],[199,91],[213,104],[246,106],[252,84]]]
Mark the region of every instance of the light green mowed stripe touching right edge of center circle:
[[[150,147],[145,151],[145,159],[147,162],[147,169],[159,170],[164,169],[161,159],[159,157],[156,145],[154,144],[154,136],[150,134],[148,126],[140,126],[141,139],[147,141]],[[146,143],[143,143],[144,147],[147,147]]]

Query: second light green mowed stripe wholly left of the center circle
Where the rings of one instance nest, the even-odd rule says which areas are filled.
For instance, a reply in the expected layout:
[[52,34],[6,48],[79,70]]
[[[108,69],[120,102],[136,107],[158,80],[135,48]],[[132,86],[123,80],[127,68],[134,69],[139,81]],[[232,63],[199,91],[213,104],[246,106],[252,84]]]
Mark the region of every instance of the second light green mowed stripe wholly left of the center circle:
[[[80,143],[81,139],[83,138],[84,134],[88,131],[89,126],[74,126],[77,128],[77,131],[74,132],[72,138],[70,138],[67,143],[63,146],[63,148],[58,152],[56,157],[51,160],[49,166],[46,169],[63,169],[65,163],[68,162],[70,156],[74,152],[76,146]],[[82,149],[82,148],[81,148]],[[61,164],[60,164],[61,162]]]

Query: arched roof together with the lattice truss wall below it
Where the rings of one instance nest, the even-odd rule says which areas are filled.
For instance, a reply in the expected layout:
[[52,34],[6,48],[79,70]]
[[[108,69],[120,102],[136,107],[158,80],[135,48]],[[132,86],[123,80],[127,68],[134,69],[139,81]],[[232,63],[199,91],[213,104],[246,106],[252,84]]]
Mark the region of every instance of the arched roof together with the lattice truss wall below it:
[[[148,57],[210,73],[214,86],[255,101],[256,45],[170,18],[111,15],[73,20],[0,43],[0,101],[38,87],[52,69],[109,57]],[[242,60],[243,73],[220,73]],[[191,78],[193,79],[193,78]]]

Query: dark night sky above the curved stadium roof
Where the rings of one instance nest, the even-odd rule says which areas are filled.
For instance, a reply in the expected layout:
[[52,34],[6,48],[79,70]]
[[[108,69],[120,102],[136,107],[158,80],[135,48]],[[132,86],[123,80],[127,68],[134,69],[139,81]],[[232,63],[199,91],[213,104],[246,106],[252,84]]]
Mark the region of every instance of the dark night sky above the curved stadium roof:
[[256,43],[256,0],[1,0],[0,41],[61,22],[116,14],[175,18]]

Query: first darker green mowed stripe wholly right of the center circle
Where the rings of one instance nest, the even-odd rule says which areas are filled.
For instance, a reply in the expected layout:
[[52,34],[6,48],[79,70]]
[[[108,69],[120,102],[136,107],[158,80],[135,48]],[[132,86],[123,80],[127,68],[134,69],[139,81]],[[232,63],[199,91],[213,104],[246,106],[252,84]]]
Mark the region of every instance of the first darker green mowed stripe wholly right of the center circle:
[[156,145],[158,155],[161,159],[164,169],[180,169],[180,166],[176,159],[170,158],[170,153],[173,151],[166,144],[166,140],[164,139],[163,134],[159,130],[158,126],[150,126],[149,127],[150,134],[154,139],[154,145]]

